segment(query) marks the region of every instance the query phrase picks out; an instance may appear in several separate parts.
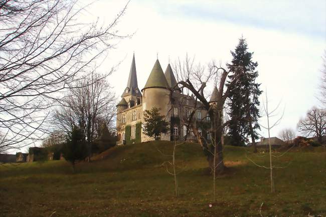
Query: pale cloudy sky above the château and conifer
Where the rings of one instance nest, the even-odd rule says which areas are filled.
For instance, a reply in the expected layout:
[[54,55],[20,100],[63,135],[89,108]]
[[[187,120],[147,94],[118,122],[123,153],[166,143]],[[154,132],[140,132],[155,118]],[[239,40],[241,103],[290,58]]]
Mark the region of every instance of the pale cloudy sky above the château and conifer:
[[[125,1],[96,1],[87,17],[107,23]],[[101,70],[122,61],[109,78],[118,100],[126,87],[133,52],[138,87],[142,89],[156,60],[163,70],[186,53],[198,62],[230,62],[238,39],[247,39],[258,82],[268,91],[269,107],[281,100],[281,123],[295,129],[300,117],[314,105],[326,49],[326,1],[140,1],[131,0],[119,23],[130,39],[119,42]],[[262,118],[260,122],[265,123]],[[262,136],[267,136],[265,131]]]

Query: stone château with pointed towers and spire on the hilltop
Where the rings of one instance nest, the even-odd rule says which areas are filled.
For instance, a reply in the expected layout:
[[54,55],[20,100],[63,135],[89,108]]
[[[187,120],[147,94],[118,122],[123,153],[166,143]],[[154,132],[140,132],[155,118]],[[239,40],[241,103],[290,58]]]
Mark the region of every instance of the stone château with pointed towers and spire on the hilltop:
[[[143,113],[153,107],[160,108],[161,115],[165,115],[166,120],[171,124],[171,132],[162,135],[161,140],[174,140],[174,138],[179,140],[186,135],[187,119],[195,109],[196,100],[193,95],[185,95],[181,90],[175,90],[171,94],[174,87],[177,87],[177,80],[170,64],[163,73],[159,61],[156,60],[145,86],[140,91],[133,55],[127,87],[116,106],[117,145],[153,140],[141,130],[141,123],[144,122]],[[216,102],[216,94],[217,91],[214,90],[210,103]],[[197,102],[196,108],[200,108],[200,104]],[[198,132],[209,141],[211,124],[207,111],[196,109],[194,118],[196,118]],[[196,139],[193,133],[189,135],[189,139]]]

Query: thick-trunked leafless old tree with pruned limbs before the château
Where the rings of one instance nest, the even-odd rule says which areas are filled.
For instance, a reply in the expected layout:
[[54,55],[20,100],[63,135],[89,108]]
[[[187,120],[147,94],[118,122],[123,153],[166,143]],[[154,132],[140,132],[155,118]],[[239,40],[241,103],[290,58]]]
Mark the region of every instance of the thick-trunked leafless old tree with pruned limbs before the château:
[[[174,65],[179,80],[178,84],[173,87],[173,91],[177,89],[187,89],[190,91],[198,102],[198,109],[206,109],[208,116],[211,119],[212,124],[212,138],[215,146],[209,145],[205,138],[201,137],[197,132],[197,129],[192,119],[196,107],[189,119],[188,129],[193,129],[194,134],[197,136],[199,143],[201,144],[204,152],[207,155],[209,167],[213,174],[219,174],[224,171],[225,165],[223,161],[223,148],[222,148],[222,136],[224,127],[228,122],[223,123],[223,109],[226,99],[230,94],[230,87],[232,87],[237,81],[239,75],[235,76],[235,79],[230,82],[225,89],[225,82],[227,80],[229,71],[225,70],[221,66],[217,66],[214,62],[208,67],[203,67],[201,64],[194,64],[194,60],[190,59],[188,55],[186,60],[181,62],[179,59]],[[209,81],[214,81],[214,87],[217,87],[217,99],[216,102],[210,103],[207,100],[205,94],[205,88]],[[172,91],[172,93],[173,93]],[[187,130],[188,134],[188,130]],[[215,154],[214,154],[215,153]]]

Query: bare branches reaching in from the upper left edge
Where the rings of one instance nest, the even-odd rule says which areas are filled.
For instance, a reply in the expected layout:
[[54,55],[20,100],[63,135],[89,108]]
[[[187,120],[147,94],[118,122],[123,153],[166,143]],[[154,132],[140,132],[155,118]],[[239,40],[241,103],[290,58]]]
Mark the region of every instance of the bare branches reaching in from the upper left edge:
[[0,147],[23,147],[48,132],[49,108],[125,37],[117,31],[125,9],[103,26],[80,22],[86,9],[75,0],[0,1]]

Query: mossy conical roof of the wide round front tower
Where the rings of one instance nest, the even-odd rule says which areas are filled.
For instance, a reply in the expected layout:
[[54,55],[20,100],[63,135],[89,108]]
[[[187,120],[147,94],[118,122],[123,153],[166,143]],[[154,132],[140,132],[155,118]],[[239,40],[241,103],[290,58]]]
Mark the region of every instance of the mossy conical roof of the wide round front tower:
[[145,87],[143,89],[151,88],[151,87],[161,87],[161,88],[170,89],[168,81],[164,76],[162,67],[160,66],[158,60],[156,60],[153,69],[151,70],[150,75],[147,79]]

